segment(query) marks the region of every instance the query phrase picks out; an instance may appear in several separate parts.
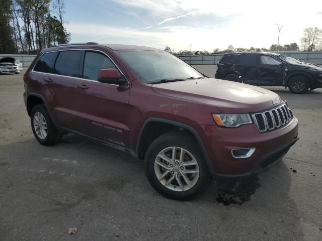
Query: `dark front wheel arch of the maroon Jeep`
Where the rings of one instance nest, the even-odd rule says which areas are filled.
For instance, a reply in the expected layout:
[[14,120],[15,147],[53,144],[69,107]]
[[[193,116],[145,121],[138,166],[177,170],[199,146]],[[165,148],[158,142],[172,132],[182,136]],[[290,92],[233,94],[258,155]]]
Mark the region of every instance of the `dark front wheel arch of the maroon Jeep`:
[[[154,125],[154,126],[153,126]],[[151,139],[149,139],[149,131],[151,130],[151,128],[155,127],[155,126],[163,126],[166,125],[166,127],[168,127],[169,129],[165,132],[159,132],[158,135],[153,136]],[[165,126],[164,126],[165,127]],[[159,128],[158,130],[165,130],[163,128]],[[157,118],[157,117],[151,117],[146,119],[146,121],[144,122],[144,124],[141,127],[138,139],[137,139],[137,144],[136,144],[136,153],[139,159],[144,159],[145,154],[146,154],[146,150],[149,147],[149,145],[160,135],[167,133],[169,131],[172,130],[180,130],[180,131],[184,131],[188,134],[190,134],[198,143],[202,154],[205,158],[205,161],[207,163],[207,166],[209,168],[209,171],[212,175],[215,174],[213,166],[211,164],[211,161],[209,159],[209,156],[206,152],[205,146],[203,145],[203,142],[201,140],[201,137],[199,136],[199,134],[197,133],[197,131],[192,128],[189,125],[180,123],[180,122],[176,122],[176,121],[171,121],[169,119],[163,119],[163,118]]]

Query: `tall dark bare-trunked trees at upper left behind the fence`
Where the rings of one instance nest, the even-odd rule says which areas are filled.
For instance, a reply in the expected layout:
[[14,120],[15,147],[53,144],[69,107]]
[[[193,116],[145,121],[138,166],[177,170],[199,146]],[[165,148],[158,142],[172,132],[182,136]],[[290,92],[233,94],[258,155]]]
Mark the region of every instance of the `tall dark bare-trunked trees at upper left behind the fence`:
[[70,41],[64,0],[0,0],[0,6],[0,53],[36,54]]

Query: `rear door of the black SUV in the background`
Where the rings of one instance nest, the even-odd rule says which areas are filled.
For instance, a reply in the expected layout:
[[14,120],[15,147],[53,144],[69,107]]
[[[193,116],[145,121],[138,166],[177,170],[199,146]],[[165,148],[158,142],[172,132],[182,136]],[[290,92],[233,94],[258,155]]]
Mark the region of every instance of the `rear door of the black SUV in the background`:
[[247,84],[257,84],[259,70],[259,54],[240,54],[239,63],[234,69]]

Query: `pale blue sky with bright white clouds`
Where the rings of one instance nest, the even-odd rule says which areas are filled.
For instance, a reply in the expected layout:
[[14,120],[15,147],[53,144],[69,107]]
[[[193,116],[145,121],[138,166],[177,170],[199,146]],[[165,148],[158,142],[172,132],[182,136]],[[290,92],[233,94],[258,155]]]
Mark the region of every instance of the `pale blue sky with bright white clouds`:
[[133,44],[175,51],[269,48],[322,29],[322,1],[65,0],[71,42]]

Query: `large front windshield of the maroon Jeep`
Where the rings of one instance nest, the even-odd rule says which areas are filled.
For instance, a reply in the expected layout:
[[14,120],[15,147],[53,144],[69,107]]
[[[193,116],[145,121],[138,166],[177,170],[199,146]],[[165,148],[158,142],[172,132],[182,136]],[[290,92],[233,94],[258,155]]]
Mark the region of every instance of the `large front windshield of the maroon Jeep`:
[[117,55],[145,83],[203,78],[176,56],[162,51],[118,50]]

